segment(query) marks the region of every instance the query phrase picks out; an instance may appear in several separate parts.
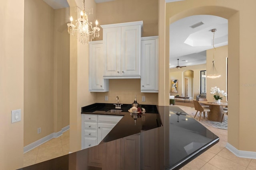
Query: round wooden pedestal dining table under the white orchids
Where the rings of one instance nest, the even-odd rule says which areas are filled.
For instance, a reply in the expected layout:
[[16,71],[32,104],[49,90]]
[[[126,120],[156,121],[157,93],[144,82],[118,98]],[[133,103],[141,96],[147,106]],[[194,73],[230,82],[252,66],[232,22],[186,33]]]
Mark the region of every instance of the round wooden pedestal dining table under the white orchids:
[[221,102],[221,103],[216,103],[216,102],[209,102],[209,101],[198,101],[201,104],[204,105],[208,105],[210,111],[208,112],[208,114],[210,115],[210,117],[208,117],[208,119],[210,119],[211,121],[218,121],[218,122],[222,122],[222,111],[223,111],[223,106],[228,106],[228,102]]

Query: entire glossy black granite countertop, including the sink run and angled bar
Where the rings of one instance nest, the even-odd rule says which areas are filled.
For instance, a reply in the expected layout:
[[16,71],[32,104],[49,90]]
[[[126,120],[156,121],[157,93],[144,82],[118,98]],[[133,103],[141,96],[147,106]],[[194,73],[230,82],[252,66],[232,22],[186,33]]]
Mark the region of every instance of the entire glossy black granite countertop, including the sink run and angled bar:
[[111,104],[82,107],[82,114],[120,115],[103,141],[88,149],[21,168],[23,170],[171,170],[182,166],[218,143],[219,138],[176,106],[143,105],[136,119],[130,104],[109,113]]

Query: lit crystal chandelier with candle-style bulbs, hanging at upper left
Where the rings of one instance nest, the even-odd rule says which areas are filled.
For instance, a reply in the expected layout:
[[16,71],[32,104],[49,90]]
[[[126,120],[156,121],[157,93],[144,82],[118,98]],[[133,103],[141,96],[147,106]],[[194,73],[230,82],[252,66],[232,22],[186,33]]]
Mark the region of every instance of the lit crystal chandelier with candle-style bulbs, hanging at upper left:
[[[85,0],[84,0],[85,1]],[[80,18],[76,20],[76,25],[72,24],[73,17],[70,17],[70,23],[68,23],[68,33],[74,35],[81,44],[88,45],[89,41],[92,41],[95,37],[100,36],[100,28],[97,27],[98,21],[96,20],[95,27],[92,27],[92,22],[88,22],[88,15],[92,14],[92,8],[85,11],[85,3],[83,2],[83,9],[81,10],[76,6],[75,11],[80,12]],[[90,31],[90,30],[91,31]]]

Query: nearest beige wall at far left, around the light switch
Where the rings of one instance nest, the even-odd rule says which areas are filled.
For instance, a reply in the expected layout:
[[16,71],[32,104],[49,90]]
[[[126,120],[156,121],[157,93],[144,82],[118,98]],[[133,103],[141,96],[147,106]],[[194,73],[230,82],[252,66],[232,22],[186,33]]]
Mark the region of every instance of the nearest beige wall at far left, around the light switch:
[[[24,1],[0,1],[0,168],[23,165]],[[11,111],[21,109],[21,121],[11,123]]]

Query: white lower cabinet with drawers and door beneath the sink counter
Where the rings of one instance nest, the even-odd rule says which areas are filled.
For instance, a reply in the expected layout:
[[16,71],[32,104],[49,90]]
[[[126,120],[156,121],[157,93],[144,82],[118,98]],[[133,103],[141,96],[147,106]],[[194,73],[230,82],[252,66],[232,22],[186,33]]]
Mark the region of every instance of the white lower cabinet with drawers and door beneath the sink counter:
[[122,116],[82,114],[82,149],[98,145]]

